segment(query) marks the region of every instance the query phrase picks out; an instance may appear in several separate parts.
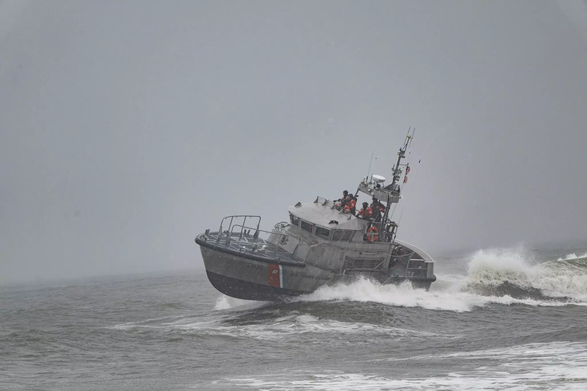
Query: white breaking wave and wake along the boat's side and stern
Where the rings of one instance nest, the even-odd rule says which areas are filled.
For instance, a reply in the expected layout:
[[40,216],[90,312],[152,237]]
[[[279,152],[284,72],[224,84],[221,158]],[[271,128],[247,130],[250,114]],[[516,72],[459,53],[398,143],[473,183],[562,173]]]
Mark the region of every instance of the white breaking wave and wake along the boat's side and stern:
[[471,311],[488,304],[587,305],[587,260],[581,257],[529,266],[508,251],[477,251],[466,276],[438,274],[429,292],[409,283],[381,285],[359,278],[323,286],[293,301],[373,301],[397,307]]

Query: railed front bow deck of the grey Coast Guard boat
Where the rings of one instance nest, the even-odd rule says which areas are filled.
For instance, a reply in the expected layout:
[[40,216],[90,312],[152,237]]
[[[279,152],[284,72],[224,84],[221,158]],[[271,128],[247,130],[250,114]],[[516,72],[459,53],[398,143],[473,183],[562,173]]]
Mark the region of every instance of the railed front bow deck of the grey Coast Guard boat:
[[[234,234],[227,241],[226,234],[221,233],[220,240],[218,240],[218,234],[218,232],[200,234],[195,238],[195,242],[212,250],[255,261],[298,267],[306,266],[302,259],[261,237],[255,238],[252,234],[239,233]],[[265,249],[262,249],[263,246],[266,246]]]

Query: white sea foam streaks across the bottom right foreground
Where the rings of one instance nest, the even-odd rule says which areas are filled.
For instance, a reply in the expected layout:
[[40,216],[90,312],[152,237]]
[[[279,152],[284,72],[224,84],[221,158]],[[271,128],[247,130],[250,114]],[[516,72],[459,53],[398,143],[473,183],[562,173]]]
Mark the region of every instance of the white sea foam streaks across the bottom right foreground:
[[[388,376],[340,371],[289,371],[267,376],[230,378],[217,385],[262,390],[584,390],[587,382],[587,344],[551,342],[448,355],[416,356],[414,360],[447,359],[463,372]],[[475,359],[484,359],[478,366]],[[487,361],[489,359],[489,361]],[[489,363],[489,364],[488,364]]]

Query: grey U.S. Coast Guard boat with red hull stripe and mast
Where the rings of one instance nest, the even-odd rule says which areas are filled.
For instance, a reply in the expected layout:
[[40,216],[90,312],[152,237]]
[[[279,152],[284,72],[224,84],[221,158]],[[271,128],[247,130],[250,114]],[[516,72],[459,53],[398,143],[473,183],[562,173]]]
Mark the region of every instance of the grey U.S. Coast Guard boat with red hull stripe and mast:
[[428,290],[436,281],[434,261],[413,244],[396,239],[398,226],[391,220],[392,206],[402,198],[398,182],[402,172],[409,171],[401,162],[412,137],[408,132],[397,152],[389,185],[379,175],[359,183],[355,194],[362,192],[375,204],[371,217],[357,217],[349,198],[318,196],[289,206],[289,221],[271,231],[259,229],[260,216],[228,216],[217,232],[207,229],[198,235],[195,243],[210,283],[225,295],[264,301],[311,293],[325,284],[351,283],[359,276],[381,284],[409,281],[414,288]]

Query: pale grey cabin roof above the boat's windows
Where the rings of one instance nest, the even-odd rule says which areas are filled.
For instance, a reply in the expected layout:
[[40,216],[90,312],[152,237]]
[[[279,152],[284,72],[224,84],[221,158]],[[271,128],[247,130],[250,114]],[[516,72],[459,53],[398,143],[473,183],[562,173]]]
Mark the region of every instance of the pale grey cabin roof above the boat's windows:
[[[288,207],[288,211],[302,220],[329,229],[365,229],[363,220],[357,219],[349,213],[339,213],[338,210],[332,209],[333,205],[332,201],[318,197],[318,202],[302,203],[300,206],[292,205]],[[337,221],[338,225],[335,223],[329,224],[332,220]]]

